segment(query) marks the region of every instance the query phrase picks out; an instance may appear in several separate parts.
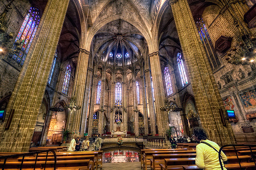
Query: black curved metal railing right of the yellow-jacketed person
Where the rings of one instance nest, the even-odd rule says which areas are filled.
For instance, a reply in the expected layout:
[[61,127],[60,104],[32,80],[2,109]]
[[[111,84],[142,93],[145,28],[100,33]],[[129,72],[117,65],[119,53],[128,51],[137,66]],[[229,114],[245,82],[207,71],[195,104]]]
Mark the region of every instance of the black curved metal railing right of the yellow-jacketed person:
[[[253,162],[254,162],[254,164],[256,166],[256,162],[255,162],[255,158],[254,158],[255,156],[253,155],[253,152],[251,150],[252,147],[256,147],[255,144],[227,144],[227,145],[224,145],[223,147],[221,147],[220,150],[219,150],[219,161],[220,161],[220,165],[221,165],[221,169],[222,170],[224,168],[223,168],[222,161],[221,161],[222,160],[222,158],[221,158],[221,151],[225,147],[233,147],[234,148],[234,151],[236,152],[236,156],[238,158],[238,163],[239,163],[239,166],[240,166],[241,170],[243,169],[243,167],[241,166],[241,162],[240,162],[240,159],[238,157],[238,153],[237,153],[236,147],[248,147],[250,149],[251,158],[252,158],[252,160],[253,160]],[[229,149],[231,149],[231,148],[229,148]]]

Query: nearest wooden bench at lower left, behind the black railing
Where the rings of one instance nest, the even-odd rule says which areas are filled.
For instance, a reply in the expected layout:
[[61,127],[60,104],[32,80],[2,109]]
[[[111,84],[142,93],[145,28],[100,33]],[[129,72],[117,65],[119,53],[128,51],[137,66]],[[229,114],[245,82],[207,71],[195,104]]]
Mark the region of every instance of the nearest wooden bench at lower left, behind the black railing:
[[[3,168],[4,161],[0,161],[0,168]],[[21,161],[7,161],[5,163],[5,168],[20,168],[22,165],[23,168],[33,168],[34,165],[36,168],[53,168],[54,167],[54,161],[24,161],[23,164]],[[90,159],[79,159],[79,160],[58,160],[56,161],[56,167],[57,168],[79,168],[79,169],[86,169],[86,170],[92,170],[93,169],[93,163]]]

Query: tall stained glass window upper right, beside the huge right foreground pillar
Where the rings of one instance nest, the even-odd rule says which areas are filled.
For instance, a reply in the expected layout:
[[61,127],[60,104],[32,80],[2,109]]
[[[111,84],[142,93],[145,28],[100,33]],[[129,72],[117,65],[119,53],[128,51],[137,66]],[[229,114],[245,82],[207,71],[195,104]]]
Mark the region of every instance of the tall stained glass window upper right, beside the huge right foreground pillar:
[[221,62],[219,60],[219,57],[217,56],[217,53],[215,52],[214,45],[211,42],[210,36],[208,34],[206,25],[202,17],[196,18],[196,25],[200,39],[204,47],[204,51],[210,63],[210,67],[213,70],[219,67],[221,65]]

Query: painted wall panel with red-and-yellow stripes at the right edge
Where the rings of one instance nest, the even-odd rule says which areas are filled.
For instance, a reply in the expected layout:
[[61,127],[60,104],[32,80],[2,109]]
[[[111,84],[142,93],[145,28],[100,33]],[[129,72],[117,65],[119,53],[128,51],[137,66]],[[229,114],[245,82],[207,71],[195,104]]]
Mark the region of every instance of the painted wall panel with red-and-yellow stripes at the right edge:
[[252,109],[256,106],[256,90],[255,89],[249,90],[239,95],[246,110]]

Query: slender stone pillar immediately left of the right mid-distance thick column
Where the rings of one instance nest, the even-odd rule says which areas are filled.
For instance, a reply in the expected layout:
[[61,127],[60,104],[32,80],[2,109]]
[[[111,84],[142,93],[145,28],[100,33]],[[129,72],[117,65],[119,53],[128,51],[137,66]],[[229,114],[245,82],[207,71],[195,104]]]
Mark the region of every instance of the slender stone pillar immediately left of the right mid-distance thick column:
[[156,134],[156,118],[155,118],[155,112],[154,112],[155,107],[154,107],[150,72],[151,72],[150,68],[147,68],[144,71],[144,75],[145,75],[146,87],[147,87],[147,100],[148,100],[148,111],[150,113],[151,133],[152,135],[155,135]]

